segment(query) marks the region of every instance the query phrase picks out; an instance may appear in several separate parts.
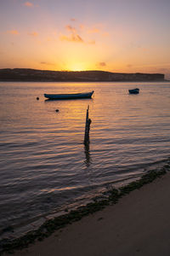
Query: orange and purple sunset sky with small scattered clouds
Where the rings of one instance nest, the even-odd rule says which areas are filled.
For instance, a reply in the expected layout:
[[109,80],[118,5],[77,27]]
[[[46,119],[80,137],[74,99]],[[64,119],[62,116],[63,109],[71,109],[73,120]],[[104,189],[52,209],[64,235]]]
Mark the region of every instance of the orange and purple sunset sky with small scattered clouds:
[[168,76],[169,48],[170,0],[0,0],[0,68]]

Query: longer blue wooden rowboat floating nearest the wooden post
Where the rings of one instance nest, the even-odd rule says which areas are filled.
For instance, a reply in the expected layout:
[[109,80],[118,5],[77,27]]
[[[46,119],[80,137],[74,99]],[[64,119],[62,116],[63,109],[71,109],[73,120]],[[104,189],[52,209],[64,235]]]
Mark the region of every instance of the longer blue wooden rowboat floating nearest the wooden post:
[[49,100],[70,100],[70,99],[83,99],[83,98],[91,98],[94,90],[90,92],[82,92],[82,93],[71,93],[71,94],[44,94],[45,98]]

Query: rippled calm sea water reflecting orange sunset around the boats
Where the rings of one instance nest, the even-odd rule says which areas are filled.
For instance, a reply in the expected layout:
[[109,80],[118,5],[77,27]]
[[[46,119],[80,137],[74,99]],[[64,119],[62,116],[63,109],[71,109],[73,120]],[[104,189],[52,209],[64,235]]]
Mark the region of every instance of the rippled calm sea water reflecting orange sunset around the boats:
[[[135,87],[139,95],[128,95]],[[0,90],[2,237],[31,230],[169,157],[170,83],[1,82]],[[93,99],[50,102],[43,97],[90,90]],[[86,148],[88,105],[92,124]]]

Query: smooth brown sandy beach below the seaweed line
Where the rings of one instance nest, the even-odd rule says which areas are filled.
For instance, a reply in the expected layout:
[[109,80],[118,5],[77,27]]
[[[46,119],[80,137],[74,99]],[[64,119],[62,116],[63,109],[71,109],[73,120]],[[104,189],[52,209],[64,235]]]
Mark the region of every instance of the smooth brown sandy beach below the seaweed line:
[[170,255],[169,196],[167,173],[14,256]]

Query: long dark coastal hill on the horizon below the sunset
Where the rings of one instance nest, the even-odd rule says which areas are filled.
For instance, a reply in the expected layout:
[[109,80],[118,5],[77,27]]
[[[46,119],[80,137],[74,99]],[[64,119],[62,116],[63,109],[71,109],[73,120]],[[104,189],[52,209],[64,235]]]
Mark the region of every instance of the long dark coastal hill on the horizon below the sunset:
[[111,73],[105,71],[49,71],[27,68],[0,69],[0,81],[111,82],[164,81],[161,73]]

